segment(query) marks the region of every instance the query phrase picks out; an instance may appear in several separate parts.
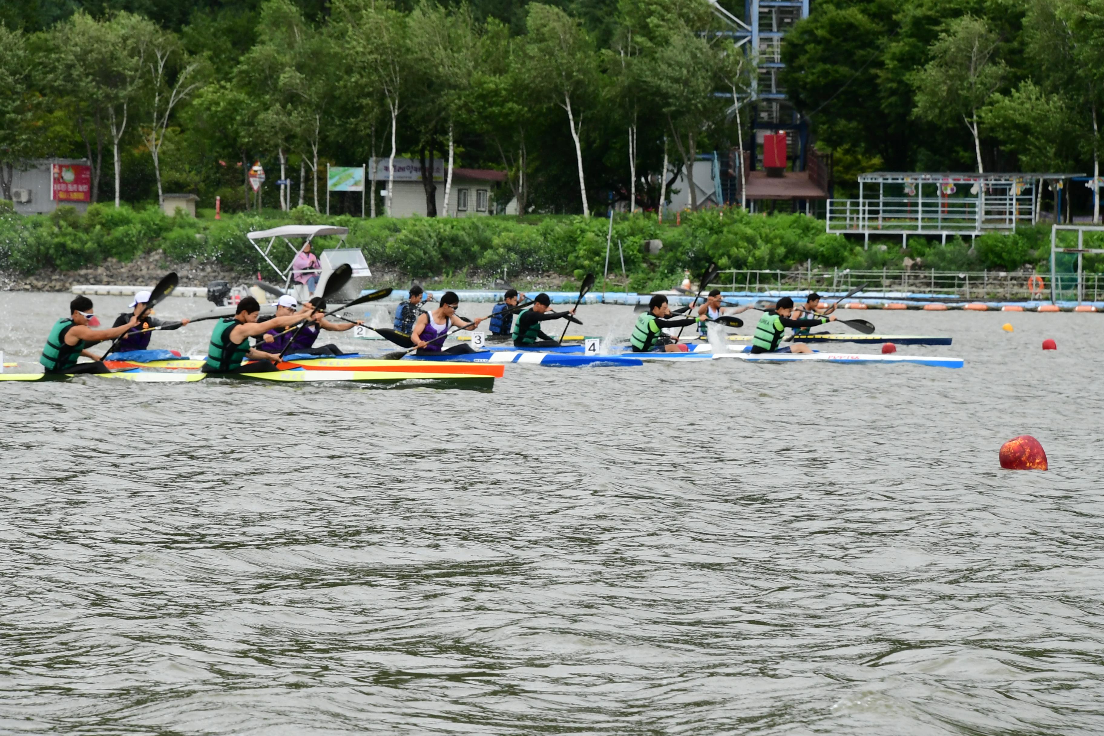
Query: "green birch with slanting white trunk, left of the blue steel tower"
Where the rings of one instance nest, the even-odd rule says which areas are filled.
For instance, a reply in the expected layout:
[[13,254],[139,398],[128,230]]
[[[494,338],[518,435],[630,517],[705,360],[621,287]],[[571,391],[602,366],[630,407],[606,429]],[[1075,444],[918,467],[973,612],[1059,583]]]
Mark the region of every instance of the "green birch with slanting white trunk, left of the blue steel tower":
[[526,28],[530,84],[567,114],[567,127],[578,166],[583,216],[590,217],[580,134],[587,98],[594,96],[598,84],[594,46],[578,21],[551,6],[530,4]]

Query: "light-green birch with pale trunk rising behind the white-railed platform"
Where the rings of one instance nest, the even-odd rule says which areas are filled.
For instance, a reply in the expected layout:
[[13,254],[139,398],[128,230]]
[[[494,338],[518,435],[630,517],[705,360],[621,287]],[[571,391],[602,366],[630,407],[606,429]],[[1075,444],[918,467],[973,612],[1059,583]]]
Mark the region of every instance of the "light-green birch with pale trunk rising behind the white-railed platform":
[[985,171],[979,114],[1006,73],[1005,63],[996,58],[998,45],[999,38],[984,19],[956,18],[932,44],[931,61],[912,77],[916,117],[946,125],[962,118],[974,137],[978,173]]

